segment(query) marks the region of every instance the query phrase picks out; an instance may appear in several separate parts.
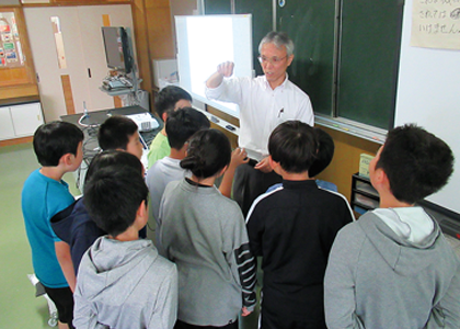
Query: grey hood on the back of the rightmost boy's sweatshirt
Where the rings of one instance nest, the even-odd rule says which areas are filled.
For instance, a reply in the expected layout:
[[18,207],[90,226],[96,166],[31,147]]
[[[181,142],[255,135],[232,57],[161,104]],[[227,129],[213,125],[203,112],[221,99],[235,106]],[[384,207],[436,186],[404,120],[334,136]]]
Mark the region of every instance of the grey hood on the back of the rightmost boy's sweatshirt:
[[439,225],[432,217],[430,219],[434,224],[433,231],[418,242],[398,236],[372,212],[366,213],[357,223],[388,265],[398,274],[405,276],[433,264],[434,259],[439,259],[444,252],[442,248],[435,248],[436,241],[444,237]]

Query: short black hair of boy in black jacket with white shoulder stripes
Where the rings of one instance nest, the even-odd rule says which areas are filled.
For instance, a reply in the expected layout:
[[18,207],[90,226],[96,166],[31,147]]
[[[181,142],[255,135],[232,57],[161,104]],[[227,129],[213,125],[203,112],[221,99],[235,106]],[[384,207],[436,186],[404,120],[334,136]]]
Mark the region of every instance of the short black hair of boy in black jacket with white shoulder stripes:
[[279,124],[269,136],[272,159],[291,173],[308,171],[317,159],[318,143],[313,128],[300,121]]

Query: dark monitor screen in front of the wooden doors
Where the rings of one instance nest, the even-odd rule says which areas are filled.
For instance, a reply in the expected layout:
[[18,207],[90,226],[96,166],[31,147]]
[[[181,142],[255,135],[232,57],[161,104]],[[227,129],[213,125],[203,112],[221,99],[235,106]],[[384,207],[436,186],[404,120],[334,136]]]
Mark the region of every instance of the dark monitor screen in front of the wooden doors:
[[105,58],[107,67],[129,73],[131,71],[131,56],[129,41],[124,27],[102,27]]

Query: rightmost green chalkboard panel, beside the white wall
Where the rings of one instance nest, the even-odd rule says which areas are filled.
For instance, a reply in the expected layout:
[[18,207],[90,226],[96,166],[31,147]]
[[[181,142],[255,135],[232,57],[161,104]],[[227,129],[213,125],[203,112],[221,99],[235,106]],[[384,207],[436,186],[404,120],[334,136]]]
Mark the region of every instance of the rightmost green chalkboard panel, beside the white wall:
[[383,129],[393,126],[401,0],[344,0],[337,116]]

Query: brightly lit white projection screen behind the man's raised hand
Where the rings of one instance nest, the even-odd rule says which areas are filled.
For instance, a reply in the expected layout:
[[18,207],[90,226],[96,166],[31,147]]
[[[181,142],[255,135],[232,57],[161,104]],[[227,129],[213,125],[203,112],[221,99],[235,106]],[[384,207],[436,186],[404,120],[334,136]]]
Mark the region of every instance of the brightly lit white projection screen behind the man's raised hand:
[[239,117],[233,103],[208,100],[205,82],[223,61],[233,61],[235,77],[252,77],[252,16],[175,16],[180,86],[192,97]]

